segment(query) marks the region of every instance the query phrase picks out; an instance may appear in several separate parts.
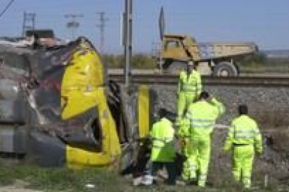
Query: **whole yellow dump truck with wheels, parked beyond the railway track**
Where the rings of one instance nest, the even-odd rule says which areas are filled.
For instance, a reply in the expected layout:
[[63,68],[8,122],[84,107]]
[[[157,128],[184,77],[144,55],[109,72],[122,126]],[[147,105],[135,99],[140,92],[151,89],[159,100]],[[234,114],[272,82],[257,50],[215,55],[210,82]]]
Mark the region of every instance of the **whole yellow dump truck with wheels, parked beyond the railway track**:
[[193,61],[198,67],[206,65],[209,74],[228,77],[238,76],[237,61],[256,51],[253,42],[196,42],[188,35],[163,35],[159,58],[165,72],[178,72]]

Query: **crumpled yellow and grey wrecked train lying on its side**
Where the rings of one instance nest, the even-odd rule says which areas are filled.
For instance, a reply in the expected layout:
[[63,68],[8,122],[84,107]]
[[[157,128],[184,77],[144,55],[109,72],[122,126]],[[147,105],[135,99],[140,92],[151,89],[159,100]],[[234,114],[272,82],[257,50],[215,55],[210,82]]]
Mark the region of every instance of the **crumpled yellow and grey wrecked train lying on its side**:
[[124,170],[148,134],[152,94],[109,81],[86,38],[39,49],[0,45],[1,157]]

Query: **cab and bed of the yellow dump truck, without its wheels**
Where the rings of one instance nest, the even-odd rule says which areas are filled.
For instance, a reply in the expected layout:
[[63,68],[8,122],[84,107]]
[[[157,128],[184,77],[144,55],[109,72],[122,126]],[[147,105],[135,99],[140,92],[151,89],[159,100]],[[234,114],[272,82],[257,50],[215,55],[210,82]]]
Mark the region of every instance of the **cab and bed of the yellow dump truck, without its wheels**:
[[162,58],[179,61],[208,61],[235,58],[258,51],[253,42],[197,42],[188,35],[165,35]]

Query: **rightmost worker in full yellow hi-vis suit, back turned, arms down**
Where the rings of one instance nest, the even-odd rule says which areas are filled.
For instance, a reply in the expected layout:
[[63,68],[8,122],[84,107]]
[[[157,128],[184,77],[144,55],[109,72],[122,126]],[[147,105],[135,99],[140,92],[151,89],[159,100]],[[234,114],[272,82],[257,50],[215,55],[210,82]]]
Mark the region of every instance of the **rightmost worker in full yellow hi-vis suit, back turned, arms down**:
[[224,150],[232,150],[232,174],[246,189],[251,187],[254,151],[262,153],[262,136],[258,125],[249,117],[248,107],[239,106],[239,117],[232,120]]

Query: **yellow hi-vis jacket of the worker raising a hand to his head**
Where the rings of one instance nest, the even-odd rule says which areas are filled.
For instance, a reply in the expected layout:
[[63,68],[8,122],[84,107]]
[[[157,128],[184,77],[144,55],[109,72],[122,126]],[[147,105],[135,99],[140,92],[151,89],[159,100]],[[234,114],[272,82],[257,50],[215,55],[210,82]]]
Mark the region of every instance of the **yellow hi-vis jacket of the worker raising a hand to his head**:
[[186,118],[191,136],[208,136],[212,133],[216,119],[225,112],[225,107],[217,99],[210,102],[198,101],[188,106]]

